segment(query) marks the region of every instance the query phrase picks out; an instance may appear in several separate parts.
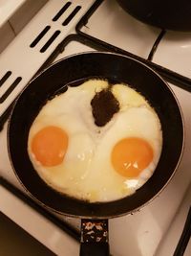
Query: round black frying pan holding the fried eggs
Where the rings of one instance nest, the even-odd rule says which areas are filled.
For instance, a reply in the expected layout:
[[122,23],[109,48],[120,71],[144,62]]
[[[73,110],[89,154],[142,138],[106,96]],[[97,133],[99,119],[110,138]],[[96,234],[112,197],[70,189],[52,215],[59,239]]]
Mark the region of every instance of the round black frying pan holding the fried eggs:
[[[154,175],[133,196],[111,202],[90,203],[57,193],[37,175],[27,151],[29,129],[41,106],[53,95],[65,91],[67,84],[78,86],[90,78],[124,82],[136,88],[157,111],[162,128],[163,147]],[[111,53],[78,54],[53,64],[31,81],[20,94],[11,113],[8,145],[15,175],[32,198],[63,215],[90,221],[96,219],[98,225],[103,224],[104,230],[107,228],[107,221],[99,220],[135,212],[159,195],[174,174],[183,146],[180,106],[167,83],[145,64]],[[82,221],[84,232],[86,224],[87,221]],[[100,231],[100,228],[98,230]],[[98,236],[101,236],[100,232]],[[82,240],[90,241],[87,237]],[[108,244],[105,244],[107,238],[101,241],[102,243],[96,243],[96,249],[99,250],[103,245],[106,254],[101,254],[96,249],[90,254],[83,254],[84,249],[86,251],[88,248],[88,243],[83,243],[81,255],[108,255]],[[93,244],[91,242],[91,248]]]

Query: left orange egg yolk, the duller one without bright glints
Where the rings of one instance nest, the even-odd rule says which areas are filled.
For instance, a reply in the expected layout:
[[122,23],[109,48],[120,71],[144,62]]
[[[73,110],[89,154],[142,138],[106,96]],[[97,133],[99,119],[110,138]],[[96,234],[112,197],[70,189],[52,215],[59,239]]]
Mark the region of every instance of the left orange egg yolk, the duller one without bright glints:
[[62,128],[42,128],[32,138],[32,152],[43,166],[59,165],[67,148],[68,135]]

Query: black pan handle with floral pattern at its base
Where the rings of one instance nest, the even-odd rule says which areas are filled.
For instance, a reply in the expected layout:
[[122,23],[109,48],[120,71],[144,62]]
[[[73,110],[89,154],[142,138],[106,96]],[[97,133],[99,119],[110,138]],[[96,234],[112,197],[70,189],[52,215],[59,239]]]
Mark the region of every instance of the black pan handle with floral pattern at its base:
[[108,220],[81,220],[80,256],[109,256]]

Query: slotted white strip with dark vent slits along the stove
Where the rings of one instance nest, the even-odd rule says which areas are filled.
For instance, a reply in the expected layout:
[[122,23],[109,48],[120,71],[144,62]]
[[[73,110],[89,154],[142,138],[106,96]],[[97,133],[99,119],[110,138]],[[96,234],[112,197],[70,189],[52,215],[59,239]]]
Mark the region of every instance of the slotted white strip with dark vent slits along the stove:
[[[53,53],[55,47],[69,34],[74,32],[74,27],[95,2],[71,1],[66,11],[57,19],[53,17],[69,1],[50,0],[35,15],[29,24],[13,39],[10,45],[0,55],[0,80],[6,75],[8,79],[0,85],[0,116],[5,112],[22,88],[32,79],[41,65]],[[74,12],[74,18],[66,25],[63,22]],[[35,38],[44,33],[37,42]],[[49,47],[46,48],[47,43]],[[14,85],[15,84],[15,85]],[[13,88],[8,97],[8,88]],[[2,98],[5,98],[3,101]]]

